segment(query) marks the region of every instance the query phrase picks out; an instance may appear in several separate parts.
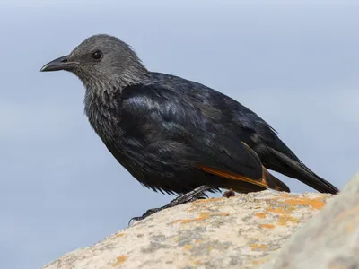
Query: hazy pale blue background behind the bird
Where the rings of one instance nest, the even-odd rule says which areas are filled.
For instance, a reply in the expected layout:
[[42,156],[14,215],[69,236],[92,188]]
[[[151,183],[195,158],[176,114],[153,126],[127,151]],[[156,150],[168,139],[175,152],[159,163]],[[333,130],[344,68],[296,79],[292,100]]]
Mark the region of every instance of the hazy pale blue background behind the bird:
[[96,33],[129,43],[152,71],[240,101],[321,177],[346,184],[359,169],[359,4],[248,3],[1,2],[0,268],[40,268],[174,198],[111,156],[73,74],[39,72]]

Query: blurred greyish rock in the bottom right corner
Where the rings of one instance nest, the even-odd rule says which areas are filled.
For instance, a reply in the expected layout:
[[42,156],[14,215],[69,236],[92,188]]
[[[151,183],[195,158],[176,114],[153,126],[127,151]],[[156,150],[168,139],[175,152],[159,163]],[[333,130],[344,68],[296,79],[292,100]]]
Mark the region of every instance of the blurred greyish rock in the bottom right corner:
[[359,173],[265,269],[359,268]]

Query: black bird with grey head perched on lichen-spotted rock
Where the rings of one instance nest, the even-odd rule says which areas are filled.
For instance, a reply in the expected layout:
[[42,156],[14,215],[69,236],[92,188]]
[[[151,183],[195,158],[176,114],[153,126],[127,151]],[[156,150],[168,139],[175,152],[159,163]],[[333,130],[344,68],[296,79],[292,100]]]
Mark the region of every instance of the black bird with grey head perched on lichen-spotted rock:
[[249,108],[203,84],[148,71],[115,37],[94,35],[41,69],[57,70],[80,78],[93,129],[118,162],[154,191],[289,192],[267,171],[272,169],[320,192],[338,192]]

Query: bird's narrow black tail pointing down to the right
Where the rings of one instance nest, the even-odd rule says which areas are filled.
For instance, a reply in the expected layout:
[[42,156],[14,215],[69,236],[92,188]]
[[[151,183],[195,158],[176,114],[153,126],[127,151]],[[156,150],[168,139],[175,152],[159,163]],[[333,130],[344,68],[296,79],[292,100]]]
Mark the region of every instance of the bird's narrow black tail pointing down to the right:
[[276,157],[283,161],[288,167],[291,168],[292,171],[286,173],[289,177],[297,178],[298,180],[302,181],[306,185],[316,189],[320,193],[328,193],[336,195],[339,190],[337,187],[329,183],[324,178],[320,178],[316,175],[311,169],[307,168],[302,161],[294,161],[287,157],[285,154],[281,152],[277,152],[274,149],[271,149],[273,153],[275,153]]

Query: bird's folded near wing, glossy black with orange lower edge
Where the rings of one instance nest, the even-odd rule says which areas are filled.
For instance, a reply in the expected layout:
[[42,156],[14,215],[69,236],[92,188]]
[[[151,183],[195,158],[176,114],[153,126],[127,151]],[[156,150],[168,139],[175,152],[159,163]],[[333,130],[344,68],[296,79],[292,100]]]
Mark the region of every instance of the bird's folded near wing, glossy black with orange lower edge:
[[266,188],[289,191],[262,166],[257,153],[193,95],[158,84],[136,85],[123,91],[120,107],[122,117],[136,126],[134,133],[145,137],[147,151],[164,154],[168,150],[170,159],[184,160],[205,173],[225,178],[224,186],[218,187],[241,192]]

